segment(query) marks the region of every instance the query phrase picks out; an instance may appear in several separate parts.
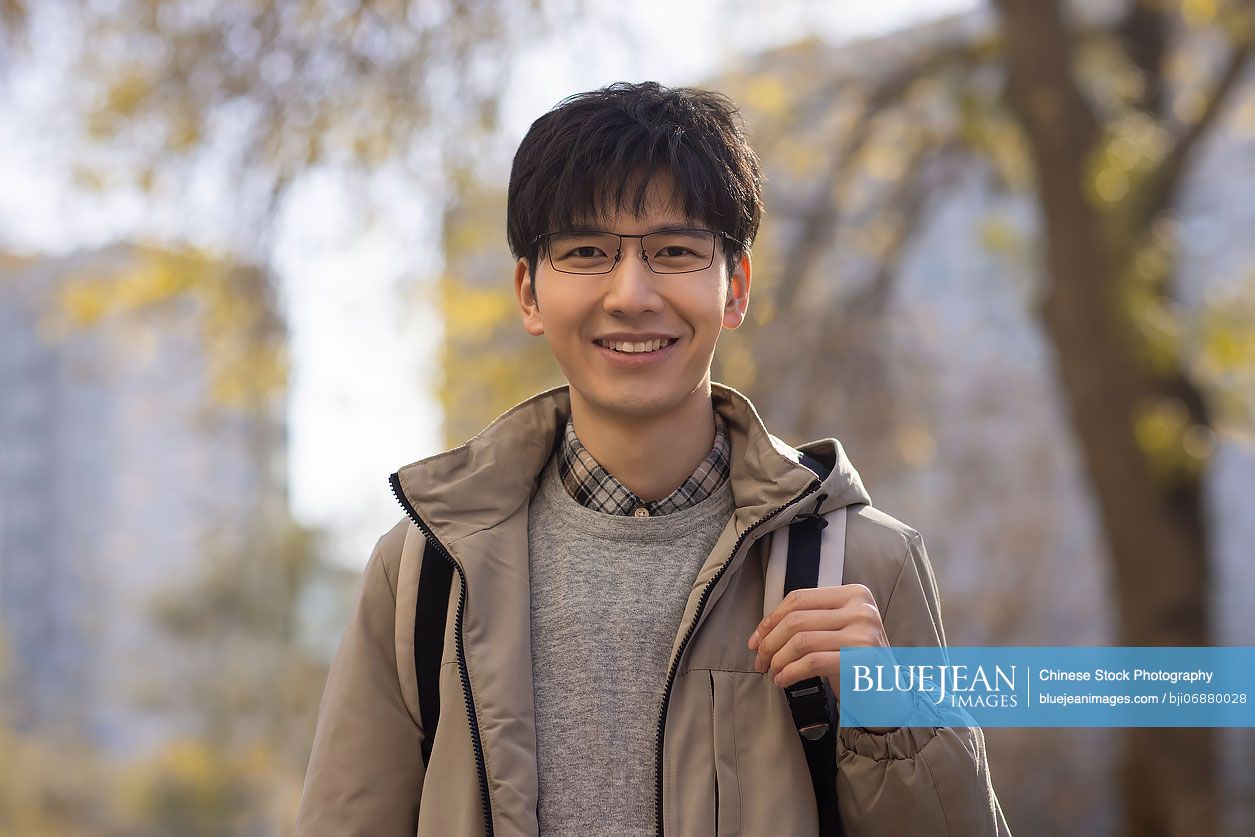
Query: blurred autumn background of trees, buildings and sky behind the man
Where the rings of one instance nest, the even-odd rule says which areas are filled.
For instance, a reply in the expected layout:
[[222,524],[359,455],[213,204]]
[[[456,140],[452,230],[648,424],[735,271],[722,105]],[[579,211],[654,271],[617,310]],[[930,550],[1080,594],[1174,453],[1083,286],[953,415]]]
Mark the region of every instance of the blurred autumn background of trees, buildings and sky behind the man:
[[[1255,645],[1252,39],[1240,0],[0,0],[0,833],[291,833],[388,474],[561,383],[510,159],[615,80],[740,105],[714,376],[842,439],[951,645]],[[1017,834],[1237,836],[1252,733],[986,740]]]

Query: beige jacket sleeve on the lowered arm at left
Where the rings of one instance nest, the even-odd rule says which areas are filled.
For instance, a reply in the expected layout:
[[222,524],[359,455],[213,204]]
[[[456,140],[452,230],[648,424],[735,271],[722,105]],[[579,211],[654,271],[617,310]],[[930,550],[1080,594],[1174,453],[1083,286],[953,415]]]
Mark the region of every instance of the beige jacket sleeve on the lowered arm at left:
[[[380,538],[319,704],[297,837],[414,834],[425,769],[423,730],[397,675],[395,565]],[[399,552],[398,552],[399,555]]]

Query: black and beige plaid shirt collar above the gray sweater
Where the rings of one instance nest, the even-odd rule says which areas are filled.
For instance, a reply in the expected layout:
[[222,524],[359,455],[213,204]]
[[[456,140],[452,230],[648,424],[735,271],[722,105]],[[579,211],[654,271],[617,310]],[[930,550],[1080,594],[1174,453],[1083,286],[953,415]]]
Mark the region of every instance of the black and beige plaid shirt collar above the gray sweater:
[[566,491],[581,506],[605,514],[653,517],[700,503],[728,478],[732,469],[732,443],[723,417],[714,414],[714,445],[679,488],[661,499],[644,501],[592,458],[575,434],[575,422],[566,420],[566,433],[558,445],[558,473]]

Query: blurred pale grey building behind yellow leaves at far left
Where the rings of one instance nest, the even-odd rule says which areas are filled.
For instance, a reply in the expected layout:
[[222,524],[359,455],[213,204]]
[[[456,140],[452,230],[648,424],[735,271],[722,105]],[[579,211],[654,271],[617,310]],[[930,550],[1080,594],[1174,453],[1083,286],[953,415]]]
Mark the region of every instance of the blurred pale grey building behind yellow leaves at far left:
[[213,295],[186,276],[221,270],[129,245],[0,257],[0,659],[19,728],[112,753],[191,732],[176,686],[216,663],[169,639],[163,606],[206,562],[272,542],[286,509],[282,399],[223,403],[240,390],[205,341],[207,317],[220,339],[277,317],[255,272]]

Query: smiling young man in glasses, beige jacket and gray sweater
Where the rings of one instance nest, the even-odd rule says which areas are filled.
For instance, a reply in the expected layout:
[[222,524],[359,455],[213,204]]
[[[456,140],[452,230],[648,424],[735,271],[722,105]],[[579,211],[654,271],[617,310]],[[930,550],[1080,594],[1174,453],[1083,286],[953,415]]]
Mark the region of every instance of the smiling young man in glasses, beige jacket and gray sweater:
[[[297,833],[816,834],[782,686],[838,649],[939,645],[920,536],[836,439],[803,445],[710,380],[749,302],[762,174],[730,103],[653,83],[572,97],[515,157],[530,334],[569,385],[393,477],[328,678]],[[848,507],[847,584],[763,617],[768,536]],[[424,548],[452,563],[439,723],[414,660]],[[847,834],[1007,834],[979,729],[842,728]],[[429,748],[424,759],[424,747]]]

